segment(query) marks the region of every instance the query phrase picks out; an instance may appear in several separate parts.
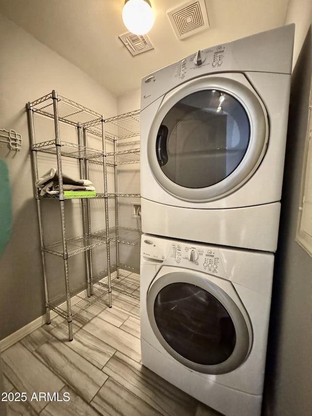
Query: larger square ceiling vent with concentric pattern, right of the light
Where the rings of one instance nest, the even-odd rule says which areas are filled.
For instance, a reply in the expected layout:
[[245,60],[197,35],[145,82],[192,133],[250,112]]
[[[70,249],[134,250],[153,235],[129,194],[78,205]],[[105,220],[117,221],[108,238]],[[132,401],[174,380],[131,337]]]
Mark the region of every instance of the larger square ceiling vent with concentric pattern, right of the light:
[[169,10],[167,15],[177,39],[187,38],[209,28],[205,0],[188,1],[176,9]]

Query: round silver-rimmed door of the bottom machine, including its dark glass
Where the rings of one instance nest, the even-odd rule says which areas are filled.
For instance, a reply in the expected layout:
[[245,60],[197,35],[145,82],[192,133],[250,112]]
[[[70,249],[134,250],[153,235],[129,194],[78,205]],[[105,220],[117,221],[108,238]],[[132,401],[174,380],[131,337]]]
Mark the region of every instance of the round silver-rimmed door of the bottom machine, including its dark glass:
[[[225,292],[218,281],[230,290]],[[169,272],[149,288],[148,318],[177,361],[201,373],[225,374],[244,362],[252,345],[248,315],[233,297],[241,303],[230,281],[187,269]]]

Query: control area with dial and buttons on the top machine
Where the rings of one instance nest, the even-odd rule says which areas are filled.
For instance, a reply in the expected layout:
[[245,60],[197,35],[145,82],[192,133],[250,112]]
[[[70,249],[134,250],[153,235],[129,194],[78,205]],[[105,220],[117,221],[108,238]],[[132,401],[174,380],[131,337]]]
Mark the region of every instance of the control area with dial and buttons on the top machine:
[[194,77],[196,74],[193,72],[200,68],[205,68],[207,73],[221,70],[224,59],[226,59],[225,46],[218,45],[214,48],[199,50],[176,63],[174,78],[184,79],[187,75],[190,78]]

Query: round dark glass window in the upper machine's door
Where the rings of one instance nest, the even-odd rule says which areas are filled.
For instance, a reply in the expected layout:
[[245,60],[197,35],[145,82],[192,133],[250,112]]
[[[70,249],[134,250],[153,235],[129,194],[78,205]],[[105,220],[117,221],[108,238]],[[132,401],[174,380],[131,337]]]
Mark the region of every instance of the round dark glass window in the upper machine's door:
[[205,188],[237,168],[249,139],[249,119],[237,99],[222,91],[197,91],[176,102],[162,119],[157,161],[177,185]]

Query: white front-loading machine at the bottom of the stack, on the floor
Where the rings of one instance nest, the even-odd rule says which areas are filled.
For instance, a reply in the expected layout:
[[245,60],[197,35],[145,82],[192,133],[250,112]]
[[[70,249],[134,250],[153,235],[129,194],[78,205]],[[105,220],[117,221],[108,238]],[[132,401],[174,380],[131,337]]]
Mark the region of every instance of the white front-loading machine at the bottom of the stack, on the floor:
[[273,262],[143,234],[143,365],[224,415],[259,416]]

